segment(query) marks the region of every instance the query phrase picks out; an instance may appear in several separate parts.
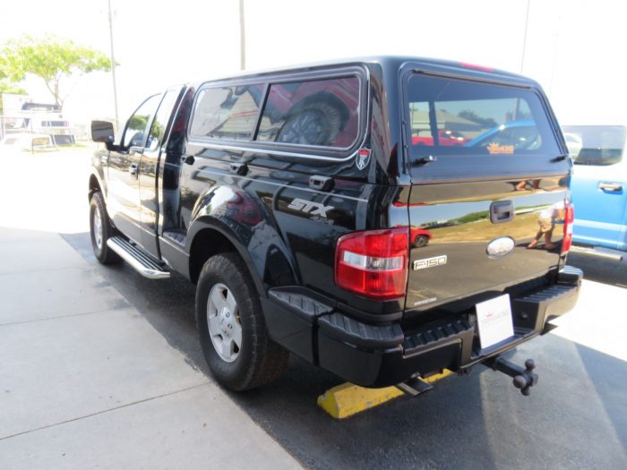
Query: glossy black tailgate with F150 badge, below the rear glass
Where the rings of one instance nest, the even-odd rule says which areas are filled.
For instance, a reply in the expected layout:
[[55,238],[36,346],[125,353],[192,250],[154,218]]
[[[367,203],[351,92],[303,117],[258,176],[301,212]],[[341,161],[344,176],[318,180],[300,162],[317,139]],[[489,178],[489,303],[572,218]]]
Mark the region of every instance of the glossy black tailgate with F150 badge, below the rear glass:
[[[516,180],[414,186],[407,308],[431,308],[556,268],[567,188],[559,177],[536,181],[537,189],[526,191],[512,191]],[[513,209],[511,219],[494,223],[502,207]],[[541,234],[528,248],[551,227],[553,245]]]

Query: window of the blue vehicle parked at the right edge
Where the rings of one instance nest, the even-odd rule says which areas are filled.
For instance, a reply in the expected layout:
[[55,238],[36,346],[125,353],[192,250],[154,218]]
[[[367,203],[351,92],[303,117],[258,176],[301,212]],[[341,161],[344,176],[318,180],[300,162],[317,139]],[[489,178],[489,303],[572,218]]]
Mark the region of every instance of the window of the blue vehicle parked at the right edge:
[[575,165],[614,165],[623,159],[622,125],[564,125],[563,134]]

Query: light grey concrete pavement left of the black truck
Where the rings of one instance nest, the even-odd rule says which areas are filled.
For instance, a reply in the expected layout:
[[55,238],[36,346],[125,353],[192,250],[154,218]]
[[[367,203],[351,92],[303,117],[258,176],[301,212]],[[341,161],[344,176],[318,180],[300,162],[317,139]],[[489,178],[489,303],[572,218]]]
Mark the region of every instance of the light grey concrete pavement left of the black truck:
[[298,468],[55,233],[0,227],[0,468]]

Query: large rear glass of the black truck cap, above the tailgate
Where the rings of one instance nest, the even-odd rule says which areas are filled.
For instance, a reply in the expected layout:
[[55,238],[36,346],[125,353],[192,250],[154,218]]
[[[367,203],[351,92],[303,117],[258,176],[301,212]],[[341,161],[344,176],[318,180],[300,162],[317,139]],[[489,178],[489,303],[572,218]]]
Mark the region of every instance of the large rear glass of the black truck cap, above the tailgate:
[[559,153],[531,90],[414,75],[408,99],[414,155]]

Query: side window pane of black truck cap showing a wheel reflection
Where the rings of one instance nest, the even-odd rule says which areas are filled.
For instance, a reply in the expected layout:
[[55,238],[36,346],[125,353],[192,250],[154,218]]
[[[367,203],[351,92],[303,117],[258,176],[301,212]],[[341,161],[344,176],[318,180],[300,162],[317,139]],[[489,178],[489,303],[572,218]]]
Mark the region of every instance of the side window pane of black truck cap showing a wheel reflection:
[[272,84],[258,141],[347,148],[359,125],[359,79]]

